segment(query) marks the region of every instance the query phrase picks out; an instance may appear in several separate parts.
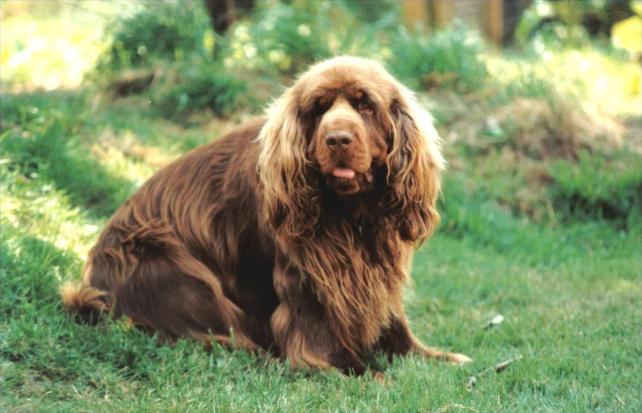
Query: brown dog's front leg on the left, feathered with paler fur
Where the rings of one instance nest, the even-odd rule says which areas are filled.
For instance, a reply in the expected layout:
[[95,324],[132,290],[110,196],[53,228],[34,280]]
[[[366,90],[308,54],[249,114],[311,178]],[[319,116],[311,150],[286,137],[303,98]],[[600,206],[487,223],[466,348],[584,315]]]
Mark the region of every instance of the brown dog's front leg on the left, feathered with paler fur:
[[334,334],[305,273],[277,254],[273,277],[281,303],[272,314],[272,333],[281,356],[292,367],[336,367],[346,374],[362,375],[365,365]]

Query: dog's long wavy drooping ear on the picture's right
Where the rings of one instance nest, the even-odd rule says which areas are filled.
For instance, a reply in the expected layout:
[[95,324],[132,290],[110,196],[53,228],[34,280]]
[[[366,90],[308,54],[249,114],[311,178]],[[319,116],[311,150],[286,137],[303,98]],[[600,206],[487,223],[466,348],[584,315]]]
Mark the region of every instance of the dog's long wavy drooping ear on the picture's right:
[[423,242],[439,221],[435,202],[445,162],[432,117],[410,90],[398,85],[390,105],[392,149],[386,158],[386,206],[403,240]]

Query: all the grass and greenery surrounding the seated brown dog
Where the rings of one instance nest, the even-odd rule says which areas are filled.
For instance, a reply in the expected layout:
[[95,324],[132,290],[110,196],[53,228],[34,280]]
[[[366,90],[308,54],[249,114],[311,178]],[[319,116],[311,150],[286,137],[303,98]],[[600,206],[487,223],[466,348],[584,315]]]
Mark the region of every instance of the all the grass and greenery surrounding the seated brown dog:
[[[261,1],[224,35],[201,1],[1,1],[2,409],[639,411],[641,4],[534,1],[500,51],[461,23],[408,30],[396,1]],[[56,286],[118,205],[340,54],[435,118],[442,223],[408,314],[483,365],[397,360],[382,392],[65,318]],[[498,311],[505,330],[477,328]],[[498,351],[523,367],[457,390]]]

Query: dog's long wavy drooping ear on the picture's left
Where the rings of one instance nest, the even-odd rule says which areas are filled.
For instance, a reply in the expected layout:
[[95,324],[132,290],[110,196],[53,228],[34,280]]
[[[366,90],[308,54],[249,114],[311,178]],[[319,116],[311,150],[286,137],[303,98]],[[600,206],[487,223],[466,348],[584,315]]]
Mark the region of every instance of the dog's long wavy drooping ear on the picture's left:
[[286,90],[266,111],[259,133],[258,171],[263,184],[266,223],[282,242],[313,237],[320,214],[318,181],[306,158],[306,128],[295,87]]

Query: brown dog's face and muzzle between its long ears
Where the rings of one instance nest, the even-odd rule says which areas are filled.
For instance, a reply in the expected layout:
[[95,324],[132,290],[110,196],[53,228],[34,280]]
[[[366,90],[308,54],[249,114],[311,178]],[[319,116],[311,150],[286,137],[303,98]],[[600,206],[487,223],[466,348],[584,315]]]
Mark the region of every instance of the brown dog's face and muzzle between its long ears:
[[392,144],[386,91],[376,87],[375,71],[366,78],[354,69],[348,61],[329,61],[297,85],[306,157],[327,187],[344,196],[372,190]]

